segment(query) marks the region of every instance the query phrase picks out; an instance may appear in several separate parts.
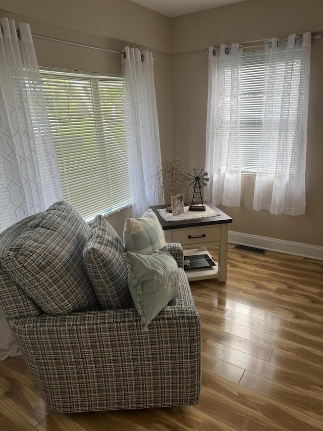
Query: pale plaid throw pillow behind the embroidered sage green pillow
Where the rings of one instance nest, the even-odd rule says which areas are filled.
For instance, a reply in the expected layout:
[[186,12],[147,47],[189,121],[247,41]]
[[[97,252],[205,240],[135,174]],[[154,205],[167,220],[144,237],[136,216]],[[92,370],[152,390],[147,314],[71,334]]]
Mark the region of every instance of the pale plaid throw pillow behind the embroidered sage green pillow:
[[123,241],[127,252],[145,255],[166,246],[163,228],[150,209],[142,217],[127,218]]

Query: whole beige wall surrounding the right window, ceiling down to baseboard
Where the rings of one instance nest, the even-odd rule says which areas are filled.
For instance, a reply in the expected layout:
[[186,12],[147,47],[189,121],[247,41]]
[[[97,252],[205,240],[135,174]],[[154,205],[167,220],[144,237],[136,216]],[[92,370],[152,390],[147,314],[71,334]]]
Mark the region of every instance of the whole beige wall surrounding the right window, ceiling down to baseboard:
[[[209,45],[246,42],[323,30],[323,1],[247,0],[172,19],[172,107],[174,157],[188,167],[205,166],[207,56]],[[323,246],[323,39],[312,43],[306,199],[304,216],[275,216],[252,209],[254,176],[243,175],[240,208],[230,230]]]

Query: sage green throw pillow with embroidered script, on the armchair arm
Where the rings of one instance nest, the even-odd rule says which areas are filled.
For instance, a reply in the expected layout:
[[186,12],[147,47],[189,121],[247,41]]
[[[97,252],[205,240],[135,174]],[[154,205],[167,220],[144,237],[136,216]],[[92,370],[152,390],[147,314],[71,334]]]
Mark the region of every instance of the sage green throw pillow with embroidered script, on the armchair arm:
[[145,327],[178,295],[178,266],[167,247],[150,255],[127,252],[128,285]]

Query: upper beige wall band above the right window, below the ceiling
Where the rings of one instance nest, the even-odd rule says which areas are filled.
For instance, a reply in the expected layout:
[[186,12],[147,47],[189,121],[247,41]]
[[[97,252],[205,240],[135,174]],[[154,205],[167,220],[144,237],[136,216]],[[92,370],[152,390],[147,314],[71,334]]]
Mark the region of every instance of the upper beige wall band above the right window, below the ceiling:
[[246,0],[172,19],[172,53],[323,30],[322,0]]

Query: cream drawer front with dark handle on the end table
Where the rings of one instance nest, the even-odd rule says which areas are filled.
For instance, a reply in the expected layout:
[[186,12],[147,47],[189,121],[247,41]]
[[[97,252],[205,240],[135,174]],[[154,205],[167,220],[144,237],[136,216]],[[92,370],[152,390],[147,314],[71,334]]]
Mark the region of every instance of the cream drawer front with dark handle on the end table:
[[176,229],[172,232],[172,241],[174,243],[181,243],[183,246],[221,241],[221,227],[201,226]]

